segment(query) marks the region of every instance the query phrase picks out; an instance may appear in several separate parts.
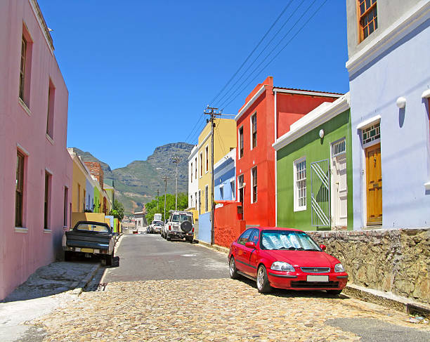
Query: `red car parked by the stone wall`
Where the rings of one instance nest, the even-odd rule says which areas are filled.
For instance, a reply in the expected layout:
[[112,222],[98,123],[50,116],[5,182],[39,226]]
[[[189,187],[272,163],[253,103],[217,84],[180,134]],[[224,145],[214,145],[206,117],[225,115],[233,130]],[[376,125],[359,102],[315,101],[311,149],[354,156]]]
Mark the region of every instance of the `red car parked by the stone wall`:
[[293,290],[326,290],[340,294],[348,281],[342,264],[325,253],[301,230],[249,228],[230,246],[230,277],[256,281],[261,293],[272,287]]

